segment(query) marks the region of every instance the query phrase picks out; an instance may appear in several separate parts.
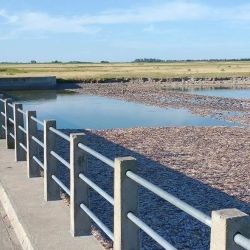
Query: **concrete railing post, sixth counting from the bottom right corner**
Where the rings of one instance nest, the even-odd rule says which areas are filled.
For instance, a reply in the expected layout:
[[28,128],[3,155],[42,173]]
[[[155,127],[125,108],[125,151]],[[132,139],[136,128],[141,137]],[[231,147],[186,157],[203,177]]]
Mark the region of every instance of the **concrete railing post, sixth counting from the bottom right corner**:
[[14,132],[15,132],[15,160],[26,161],[26,152],[19,143],[24,144],[25,134],[19,129],[19,126],[24,127],[23,114],[18,109],[23,109],[22,104],[14,104]]

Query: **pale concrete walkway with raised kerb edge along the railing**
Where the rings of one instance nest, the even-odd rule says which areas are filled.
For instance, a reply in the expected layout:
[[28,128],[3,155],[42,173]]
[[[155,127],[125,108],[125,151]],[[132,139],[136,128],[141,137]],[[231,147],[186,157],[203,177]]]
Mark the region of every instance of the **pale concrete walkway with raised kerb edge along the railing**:
[[14,162],[14,150],[0,140],[0,199],[23,249],[103,247],[94,236],[70,235],[69,209],[62,201],[45,202],[43,179],[28,179],[25,162]]

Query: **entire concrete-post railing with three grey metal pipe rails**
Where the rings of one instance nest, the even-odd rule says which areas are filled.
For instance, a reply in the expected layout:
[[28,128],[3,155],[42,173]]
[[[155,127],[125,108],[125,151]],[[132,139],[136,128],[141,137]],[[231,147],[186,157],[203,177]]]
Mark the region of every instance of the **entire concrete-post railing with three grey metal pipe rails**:
[[[114,242],[115,250],[140,249],[140,229],[164,249],[176,249],[138,217],[138,187],[142,186],[210,227],[210,249],[250,249],[249,215],[238,209],[224,209],[212,211],[210,217],[139,176],[134,158],[110,160],[86,145],[85,134],[68,136],[56,129],[56,121],[42,122],[35,111],[24,112],[22,104],[1,96],[0,112],[0,138],[6,139],[7,148],[15,149],[15,160],[27,161],[29,178],[43,171],[45,201],[61,199],[61,189],[70,197],[70,231],[74,237],[90,234],[92,220]],[[38,139],[38,126],[44,131],[43,141]],[[70,144],[70,162],[56,153],[58,137]],[[39,147],[44,151],[43,160],[39,159]],[[114,168],[114,198],[86,176],[88,155]],[[70,171],[70,188],[58,177],[59,163]],[[114,207],[114,232],[89,209],[89,188]]]

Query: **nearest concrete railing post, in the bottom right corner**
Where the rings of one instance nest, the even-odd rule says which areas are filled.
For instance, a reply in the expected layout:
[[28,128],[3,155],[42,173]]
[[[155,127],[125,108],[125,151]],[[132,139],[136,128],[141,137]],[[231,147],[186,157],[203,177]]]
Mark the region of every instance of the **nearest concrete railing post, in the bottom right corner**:
[[237,233],[250,237],[249,215],[235,208],[212,212],[211,250],[242,250],[234,242]]

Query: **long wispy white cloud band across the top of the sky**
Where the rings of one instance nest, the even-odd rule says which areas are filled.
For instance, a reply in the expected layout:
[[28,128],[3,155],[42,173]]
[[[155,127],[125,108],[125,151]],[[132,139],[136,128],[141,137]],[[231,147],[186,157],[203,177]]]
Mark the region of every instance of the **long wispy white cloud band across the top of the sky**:
[[[234,7],[213,7],[190,1],[172,1],[145,7],[120,9],[96,15],[56,16],[43,12],[9,13],[0,9],[0,21],[8,24],[13,36],[32,33],[96,33],[101,25],[143,23],[153,25],[159,22],[215,20],[249,22],[250,4]],[[6,24],[5,24],[6,25]],[[1,23],[0,23],[1,27]],[[149,26],[151,32],[154,26]],[[153,30],[154,29],[154,30]],[[150,30],[148,30],[150,31]]]

